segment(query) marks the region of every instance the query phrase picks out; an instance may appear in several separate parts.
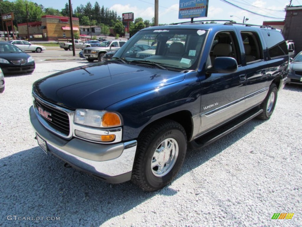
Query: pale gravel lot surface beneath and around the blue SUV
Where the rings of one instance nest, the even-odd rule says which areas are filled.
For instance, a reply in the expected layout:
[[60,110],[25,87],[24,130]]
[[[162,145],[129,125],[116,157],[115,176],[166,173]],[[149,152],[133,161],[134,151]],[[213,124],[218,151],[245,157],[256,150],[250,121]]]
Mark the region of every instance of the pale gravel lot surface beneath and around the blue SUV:
[[[34,140],[32,83],[86,64],[39,63],[32,74],[5,76],[0,226],[302,226],[301,86],[279,93],[270,120],[251,120],[201,150],[188,150],[176,179],[146,193],[130,182],[111,185],[66,169]],[[271,219],[274,213],[294,215]]]

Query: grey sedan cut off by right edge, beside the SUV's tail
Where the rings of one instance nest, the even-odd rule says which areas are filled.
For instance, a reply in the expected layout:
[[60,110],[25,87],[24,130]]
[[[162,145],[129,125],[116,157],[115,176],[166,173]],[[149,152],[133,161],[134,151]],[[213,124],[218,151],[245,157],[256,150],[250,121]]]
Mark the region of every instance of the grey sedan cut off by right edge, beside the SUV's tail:
[[302,51],[289,64],[287,82],[302,85]]

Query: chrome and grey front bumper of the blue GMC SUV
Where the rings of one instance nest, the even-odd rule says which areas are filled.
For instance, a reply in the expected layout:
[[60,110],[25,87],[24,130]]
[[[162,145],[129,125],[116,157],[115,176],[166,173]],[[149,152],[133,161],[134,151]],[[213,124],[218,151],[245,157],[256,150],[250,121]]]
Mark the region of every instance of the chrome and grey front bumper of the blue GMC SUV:
[[122,183],[131,179],[136,140],[117,144],[97,144],[78,138],[66,140],[43,127],[33,106],[29,109],[29,115],[34,131],[46,141],[49,153],[109,183]]

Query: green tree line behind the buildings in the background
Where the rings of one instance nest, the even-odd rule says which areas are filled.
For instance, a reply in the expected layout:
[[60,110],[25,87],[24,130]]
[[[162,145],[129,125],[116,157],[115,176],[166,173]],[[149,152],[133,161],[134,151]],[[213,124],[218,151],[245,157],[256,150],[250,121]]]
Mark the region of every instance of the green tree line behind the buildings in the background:
[[[15,0],[14,2],[3,1],[0,2],[0,9],[2,14],[14,13],[14,25],[20,23],[26,23],[26,6],[28,14],[28,21],[40,21],[43,15],[56,15],[56,16],[69,16],[69,5],[65,4],[65,7],[61,10],[55,8],[45,8],[43,5],[38,5],[35,2],[28,0]],[[79,18],[80,25],[99,25],[102,27],[102,31],[109,31],[110,28],[114,28],[114,32],[123,35],[125,31],[125,25],[127,22],[122,22],[122,18],[117,15],[117,12],[109,10],[109,8],[101,7],[98,2],[92,5],[87,2],[86,5],[79,5],[73,10],[72,17]],[[143,20],[143,18],[136,18],[133,22],[129,22],[130,35],[134,35],[137,31],[154,25],[154,18],[151,21]],[[2,28],[2,23],[0,23]],[[4,28],[1,29],[5,30]]]

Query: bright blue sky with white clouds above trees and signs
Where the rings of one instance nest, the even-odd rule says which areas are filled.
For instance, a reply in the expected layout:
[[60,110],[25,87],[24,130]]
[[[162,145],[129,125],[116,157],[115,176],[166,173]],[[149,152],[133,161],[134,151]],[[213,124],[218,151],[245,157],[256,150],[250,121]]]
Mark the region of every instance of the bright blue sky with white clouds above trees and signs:
[[[9,0],[13,2],[13,0]],[[189,1],[189,0],[188,0]],[[249,18],[247,23],[261,24],[262,21],[278,21],[284,20],[285,12],[284,8],[289,4],[290,0],[226,0],[230,3],[245,8],[249,11],[270,16],[273,18],[265,18],[260,15],[255,15],[250,12],[246,12],[242,9],[231,6],[223,0],[209,0],[209,9],[207,18],[195,18],[194,20],[229,20],[233,19],[237,22],[242,22],[243,18]],[[31,0],[37,4],[42,4],[45,8],[52,7],[56,9],[62,9],[68,0]],[[86,5],[88,1],[83,0],[71,0],[73,9],[80,4]],[[95,4],[95,0],[90,1],[92,5]],[[105,8],[114,10],[117,15],[122,16],[122,13],[133,12],[134,18],[142,17],[144,20],[151,20],[154,17],[154,0],[112,0],[112,1],[97,1],[100,6],[104,5]],[[302,5],[302,0],[292,0],[292,5]],[[179,0],[159,0],[159,23],[169,24],[173,22],[184,22],[186,19],[178,19]],[[230,15],[233,15],[231,18]],[[278,19],[282,18],[282,19]]]

